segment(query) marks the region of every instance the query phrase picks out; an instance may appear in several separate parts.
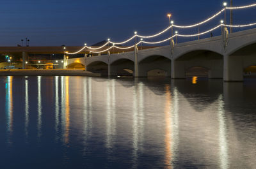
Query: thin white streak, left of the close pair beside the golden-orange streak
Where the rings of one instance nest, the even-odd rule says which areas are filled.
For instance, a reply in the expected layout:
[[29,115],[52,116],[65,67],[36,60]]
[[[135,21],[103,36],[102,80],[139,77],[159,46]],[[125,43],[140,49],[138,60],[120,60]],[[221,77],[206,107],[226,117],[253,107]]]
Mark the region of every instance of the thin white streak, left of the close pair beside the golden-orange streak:
[[60,107],[59,107],[59,77],[55,77],[55,131],[56,138],[58,138],[59,131],[59,118],[60,118]]

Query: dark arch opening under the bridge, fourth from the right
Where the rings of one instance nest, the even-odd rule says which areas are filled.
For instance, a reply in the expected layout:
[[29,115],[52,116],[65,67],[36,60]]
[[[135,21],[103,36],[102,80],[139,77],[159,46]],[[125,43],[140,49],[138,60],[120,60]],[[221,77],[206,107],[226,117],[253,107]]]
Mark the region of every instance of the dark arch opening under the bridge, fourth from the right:
[[134,75],[134,61],[127,58],[119,58],[109,64],[110,76]]

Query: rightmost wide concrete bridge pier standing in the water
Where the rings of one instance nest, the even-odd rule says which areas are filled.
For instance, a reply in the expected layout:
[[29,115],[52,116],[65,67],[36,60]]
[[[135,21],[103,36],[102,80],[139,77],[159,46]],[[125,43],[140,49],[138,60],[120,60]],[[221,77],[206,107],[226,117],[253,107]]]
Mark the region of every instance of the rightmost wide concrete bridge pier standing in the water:
[[241,55],[225,55],[223,67],[224,82],[243,82],[243,57]]

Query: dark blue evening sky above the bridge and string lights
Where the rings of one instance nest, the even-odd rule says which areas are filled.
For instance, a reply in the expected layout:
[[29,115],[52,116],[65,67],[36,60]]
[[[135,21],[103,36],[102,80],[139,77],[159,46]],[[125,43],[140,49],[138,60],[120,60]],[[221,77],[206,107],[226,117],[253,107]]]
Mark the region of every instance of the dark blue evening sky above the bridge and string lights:
[[[234,6],[256,3],[233,1]],[[80,46],[84,42],[92,45],[107,38],[122,41],[134,31],[148,35],[163,30],[168,26],[168,12],[172,13],[175,24],[187,25],[210,17],[222,8],[222,3],[220,0],[1,0],[0,46],[16,46],[26,37],[31,46]],[[214,27],[220,19],[200,29]],[[256,22],[256,8],[236,11],[234,20],[235,24]]]

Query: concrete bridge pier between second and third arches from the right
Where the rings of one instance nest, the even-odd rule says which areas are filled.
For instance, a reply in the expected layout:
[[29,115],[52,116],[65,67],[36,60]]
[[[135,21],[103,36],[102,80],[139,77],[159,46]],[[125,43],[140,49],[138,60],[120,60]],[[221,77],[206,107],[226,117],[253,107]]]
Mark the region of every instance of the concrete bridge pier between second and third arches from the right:
[[186,78],[184,61],[172,60],[172,78]]

